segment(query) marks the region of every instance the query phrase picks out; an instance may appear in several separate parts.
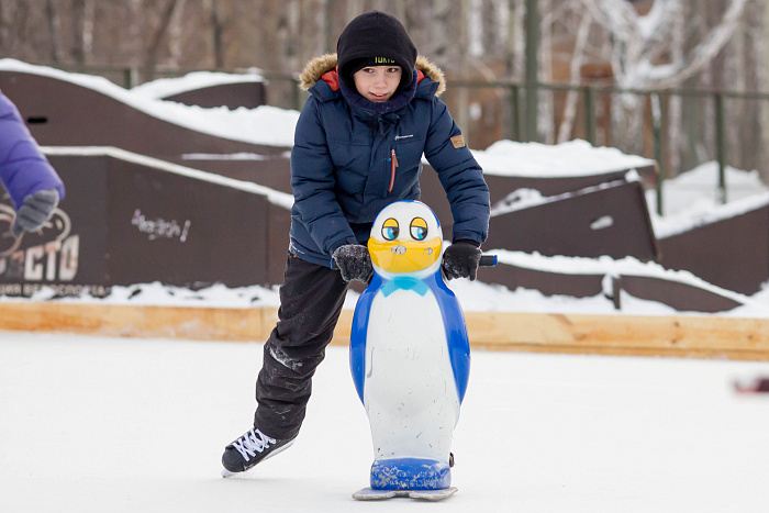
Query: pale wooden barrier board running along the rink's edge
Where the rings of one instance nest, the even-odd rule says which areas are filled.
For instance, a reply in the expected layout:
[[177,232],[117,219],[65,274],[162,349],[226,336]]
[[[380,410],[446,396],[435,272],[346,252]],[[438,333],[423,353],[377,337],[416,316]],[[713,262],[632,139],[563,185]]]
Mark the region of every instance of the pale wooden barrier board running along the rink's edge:
[[[215,309],[0,302],[0,330],[264,342],[276,308]],[[344,310],[335,345],[349,343]],[[466,312],[476,349],[769,361],[769,320],[716,316]]]

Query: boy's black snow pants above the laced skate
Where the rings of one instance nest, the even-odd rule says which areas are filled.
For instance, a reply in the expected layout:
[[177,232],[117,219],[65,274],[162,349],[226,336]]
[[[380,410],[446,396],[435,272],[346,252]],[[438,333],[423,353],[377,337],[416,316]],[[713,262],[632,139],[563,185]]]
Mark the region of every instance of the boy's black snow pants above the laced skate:
[[289,254],[278,323],[256,381],[254,425],[266,435],[288,439],[299,433],[312,376],[334,335],[347,288],[338,270]]

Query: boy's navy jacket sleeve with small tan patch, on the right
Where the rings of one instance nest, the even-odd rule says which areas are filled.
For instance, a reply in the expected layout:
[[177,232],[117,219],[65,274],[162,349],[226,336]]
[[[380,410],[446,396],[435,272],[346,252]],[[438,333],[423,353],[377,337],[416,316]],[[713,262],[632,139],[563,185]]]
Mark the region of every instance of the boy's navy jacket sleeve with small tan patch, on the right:
[[[454,142],[453,142],[454,140]],[[489,234],[489,187],[446,104],[433,99],[424,155],[437,171],[454,216],[452,241],[482,243]]]

